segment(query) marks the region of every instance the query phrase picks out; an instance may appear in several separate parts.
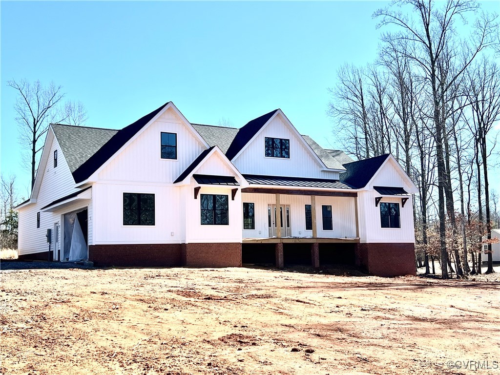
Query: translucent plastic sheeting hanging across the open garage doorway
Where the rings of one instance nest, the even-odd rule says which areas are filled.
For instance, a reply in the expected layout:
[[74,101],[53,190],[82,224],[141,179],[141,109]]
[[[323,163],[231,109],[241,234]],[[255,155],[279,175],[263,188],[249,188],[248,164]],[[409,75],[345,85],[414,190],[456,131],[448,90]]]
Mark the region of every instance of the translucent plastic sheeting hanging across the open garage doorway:
[[64,214],[64,260],[78,261],[87,258],[86,239],[76,215],[84,210],[86,208]]

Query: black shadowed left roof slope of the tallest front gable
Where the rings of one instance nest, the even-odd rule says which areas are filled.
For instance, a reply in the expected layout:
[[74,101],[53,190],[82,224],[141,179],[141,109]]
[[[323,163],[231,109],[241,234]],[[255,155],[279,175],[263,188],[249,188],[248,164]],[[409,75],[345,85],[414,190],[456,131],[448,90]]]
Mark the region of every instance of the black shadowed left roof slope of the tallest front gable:
[[106,143],[102,145],[92,156],[83,162],[74,172],[73,178],[76,183],[88,178],[95,172],[106,160],[108,160],[117,150],[121,148],[137,131],[139,131],[146,123],[148,123],[158,112],[169,103],[161,105],[152,112],[139,118],[130,125],[118,130]]

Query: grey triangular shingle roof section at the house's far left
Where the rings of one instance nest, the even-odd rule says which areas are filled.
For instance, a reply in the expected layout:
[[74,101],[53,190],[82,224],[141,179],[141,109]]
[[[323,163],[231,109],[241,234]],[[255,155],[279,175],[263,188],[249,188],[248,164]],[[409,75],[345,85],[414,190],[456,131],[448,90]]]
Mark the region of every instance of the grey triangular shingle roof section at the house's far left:
[[52,126],[71,173],[118,132],[116,129],[60,123],[52,123],[50,126]]

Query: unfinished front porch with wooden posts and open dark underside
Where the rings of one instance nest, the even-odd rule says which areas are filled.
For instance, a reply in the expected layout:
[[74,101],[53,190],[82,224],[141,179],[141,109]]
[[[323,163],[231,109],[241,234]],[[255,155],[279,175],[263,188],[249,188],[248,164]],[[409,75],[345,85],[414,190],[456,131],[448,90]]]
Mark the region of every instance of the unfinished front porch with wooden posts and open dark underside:
[[[359,243],[357,192],[344,189],[243,188],[253,219],[243,217],[243,263],[355,265]],[[331,187],[330,187],[331,188]],[[347,191],[346,191],[347,190]],[[250,203],[246,203],[250,202]],[[279,208],[277,208],[279,207]]]

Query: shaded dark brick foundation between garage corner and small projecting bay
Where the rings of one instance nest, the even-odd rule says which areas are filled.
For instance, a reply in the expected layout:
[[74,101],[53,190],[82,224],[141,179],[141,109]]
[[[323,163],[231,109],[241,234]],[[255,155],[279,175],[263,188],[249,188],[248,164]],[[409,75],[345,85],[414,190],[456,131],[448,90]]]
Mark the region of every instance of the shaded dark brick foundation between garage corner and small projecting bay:
[[106,244],[88,246],[96,266],[179,266],[180,243]]

